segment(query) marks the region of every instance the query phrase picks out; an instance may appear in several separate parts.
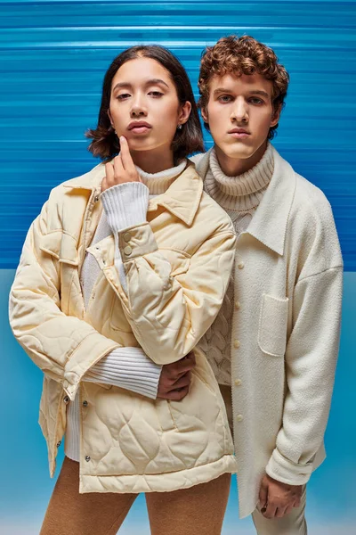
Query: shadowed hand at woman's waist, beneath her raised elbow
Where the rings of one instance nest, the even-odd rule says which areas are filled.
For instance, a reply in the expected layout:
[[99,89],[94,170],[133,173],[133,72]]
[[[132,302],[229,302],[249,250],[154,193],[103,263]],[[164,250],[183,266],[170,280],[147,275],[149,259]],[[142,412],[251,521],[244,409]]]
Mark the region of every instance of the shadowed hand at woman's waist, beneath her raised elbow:
[[158,383],[158,398],[180,401],[188,394],[190,386],[190,370],[195,366],[194,353],[172,364],[162,366]]

